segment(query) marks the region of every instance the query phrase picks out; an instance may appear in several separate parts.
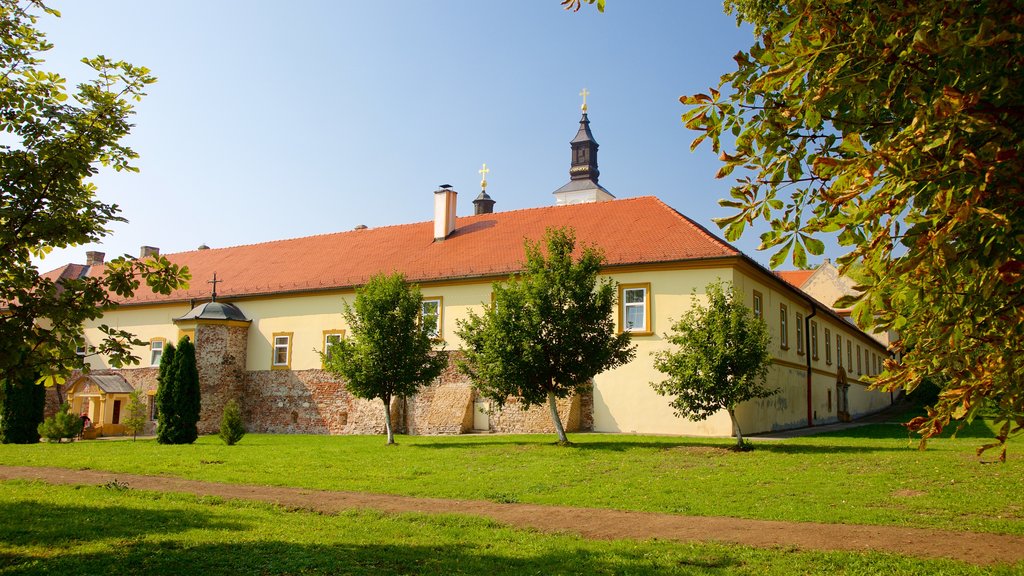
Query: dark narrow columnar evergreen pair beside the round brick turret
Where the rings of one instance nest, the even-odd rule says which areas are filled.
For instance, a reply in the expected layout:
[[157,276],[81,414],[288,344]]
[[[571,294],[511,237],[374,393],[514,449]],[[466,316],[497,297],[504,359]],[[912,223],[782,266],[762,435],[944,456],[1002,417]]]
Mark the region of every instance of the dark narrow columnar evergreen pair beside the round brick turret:
[[200,398],[199,370],[196,367],[196,346],[188,336],[178,340],[177,347],[168,345],[160,359],[158,375],[157,442],[160,444],[191,444],[199,438]]

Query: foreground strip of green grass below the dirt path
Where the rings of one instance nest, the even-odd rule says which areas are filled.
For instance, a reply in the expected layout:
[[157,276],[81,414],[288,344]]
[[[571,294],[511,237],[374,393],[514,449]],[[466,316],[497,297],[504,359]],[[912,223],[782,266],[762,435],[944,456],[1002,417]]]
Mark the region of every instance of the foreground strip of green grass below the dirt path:
[[0,483],[0,574],[1020,574],[894,554],[591,541],[454,516]]

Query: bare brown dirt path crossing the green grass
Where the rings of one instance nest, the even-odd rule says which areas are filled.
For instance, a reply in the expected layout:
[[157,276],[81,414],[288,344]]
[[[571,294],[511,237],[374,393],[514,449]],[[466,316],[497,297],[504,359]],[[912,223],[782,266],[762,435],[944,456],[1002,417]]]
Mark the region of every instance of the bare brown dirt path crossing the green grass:
[[479,500],[218,484],[96,470],[0,466],[0,480],[10,479],[78,485],[101,485],[117,480],[138,490],[261,500],[289,508],[329,513],[351,508],[373,508],[387,512],[461,513],[486,517],[515,527],[574,533],[594,539],[657,538],[812,550],[877,550],[921,558],[947,558],[982,565],[1024,561],[1024,537],[975,532],[499,504]]

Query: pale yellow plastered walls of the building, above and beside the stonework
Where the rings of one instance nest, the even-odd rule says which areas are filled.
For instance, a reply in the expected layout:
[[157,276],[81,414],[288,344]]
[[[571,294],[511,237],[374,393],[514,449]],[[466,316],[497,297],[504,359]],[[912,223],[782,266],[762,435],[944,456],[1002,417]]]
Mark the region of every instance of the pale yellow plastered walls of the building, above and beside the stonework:
[[[645,433],[668,435],[729,436],[731,422],[724,412],[701,422],[678,418],[667,398],[654,393],[650,383],[662,379],[653,368],[652,355],[666,349],[665,334],[696,298],[701,298],[705,287],[715,281],[732,282],[743,294],[748,305],[754,305],[755,292],[762,299],[764,319],[772,336],[771,353],[775,362],[769,375],[769,384],[781,393],[768,400],[749,403],[737,410],[744,433],[767,431],[806,425],[808,415],[806,363],[811,358],[812,400],[811,415],[815,423],[836,421],[839,388],[836,387],[838,359],[831,349],[831,363],[826,362],[824,346],[835,348],[837,335],[842,340],[843,363],[848,372],[850,388],[847,397],[855,415],[881,409],[889,404],[889,395],[866,389],[865,367],[877,364],[870,355],[882,357],[884,348],[869,336],[834,316],[819,311],[811,321],[817,334],[817,356],[812,349],[797,345],[796,323],[798,314],[808,317],[812,310],[809,301],[770,273],[741,258],[723,258],[713,262],[684,261],[650,266],[632,266],[608,271],[608,276],[624,285],[650,287],[647,314],[650,326],[643,334],[635,336],[636,358],[627,366],[599,374],[594,381],[594,430],[620,433]],[[467,318],[470,311],[480,313],[490,302],[489,280],[433,282],[421,286],[423,294],[441,298],[443,302],[440,334],[446,349],[461,346],[456,329],[458,322]],[[247,318],[252,319],[248,331],[246,369],[271,370],[274,335],[288,334],[289,365],[291,370],[309,370],[322,367],[319,353],[324,349],[325,334],[348,331],[341,311],[343,302],[352,302],[352,290],[335,290],[301,295],[269,295],[231,300]],[[620,303],[622,305],[622,303]],[[787,312],[787,347],[780,345],[780,310]],[[86,338],[99,338],[96,325],[106,323],[129,330],[140,339],[166,338],[177,340],[179,328],[172,319],[188,312],[186,303],[162,305],[126,305],[109,313],[85,329]],[[617,316],[621,318],[621,316]],[[824,342],[828,329],[833,341]],[[848,365],[847,341],[859,345],[864,352],[862,372]],[[148,365],[148,346],[135,351]],[[94,368],[104,368],[102,359],[91,361]]]

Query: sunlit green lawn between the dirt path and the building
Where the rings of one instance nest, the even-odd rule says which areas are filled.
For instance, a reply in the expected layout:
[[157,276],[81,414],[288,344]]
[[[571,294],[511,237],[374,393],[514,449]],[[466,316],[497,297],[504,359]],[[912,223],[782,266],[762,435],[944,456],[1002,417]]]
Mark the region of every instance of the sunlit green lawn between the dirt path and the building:
[[223,446],[152,441],[0,446],[6,464],[93,468],[295,486],[662,511],[1024,534],[1024,443],[1006,464],[974,455],[981,422],[927,451],[895,424],[733,453],[729,440],[572,435],[382,437],[249,435]]

